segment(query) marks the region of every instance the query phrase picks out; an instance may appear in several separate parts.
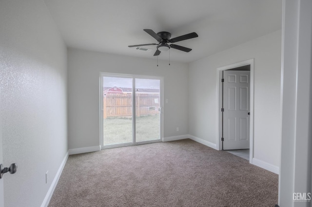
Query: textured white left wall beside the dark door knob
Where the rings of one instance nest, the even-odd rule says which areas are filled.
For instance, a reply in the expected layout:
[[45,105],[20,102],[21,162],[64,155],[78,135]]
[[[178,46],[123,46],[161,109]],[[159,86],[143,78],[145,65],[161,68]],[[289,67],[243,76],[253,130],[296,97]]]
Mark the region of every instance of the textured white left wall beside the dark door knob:
[[42,0],[1,0],[0,19],[4,206],[39,207],[68,151],[66,46]]

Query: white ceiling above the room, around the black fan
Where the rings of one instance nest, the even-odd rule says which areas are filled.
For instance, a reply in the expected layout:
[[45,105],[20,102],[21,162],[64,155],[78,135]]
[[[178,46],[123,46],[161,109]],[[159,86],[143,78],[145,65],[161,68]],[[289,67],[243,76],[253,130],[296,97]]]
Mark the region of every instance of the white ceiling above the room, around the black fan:
[[[68,47],[156,58],[128,45],[157,43],[143,29],[191,32],[171,61],[189,63],[281,29],[282,0],[45,0]],[[159,59],[168,60],[168,52]]]

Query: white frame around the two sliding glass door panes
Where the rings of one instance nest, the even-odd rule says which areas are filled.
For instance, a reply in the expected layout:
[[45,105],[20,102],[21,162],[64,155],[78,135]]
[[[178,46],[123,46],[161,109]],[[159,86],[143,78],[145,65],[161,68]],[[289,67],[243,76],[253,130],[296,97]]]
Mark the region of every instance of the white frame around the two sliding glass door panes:
[[[132,100],[133,105],[136,104],[136,94],[135,94],[135,82],[136,78],[138,79],[156,79],[160,80],[160,132],[159,132],[159,139],[156,140],[150,140],[150,141],[136,141],[136,107],[132,107],[132,143],[122,143],[122,144],[114,144],[112,146],[104,146],[104,140],[103,140],[103,81],[101,80],[102,77],[120,77],[120,78],[132,78]],[[148,143],[154,143],[154,142],[160,142],[163,138],[163,92],[164,92],[164,78],[160,76],[150,76],[150,75],[132,75],[132,74],[121,74],[121,73],[109,73],[109,72],[100,72],[99,76],[99,143],[101,146],[101,149],[108,149],[108,148],[116,148],[116,147],[123,147],[123,146],[132,146],[132,145],[140,145],[140,144],[148,144]]]

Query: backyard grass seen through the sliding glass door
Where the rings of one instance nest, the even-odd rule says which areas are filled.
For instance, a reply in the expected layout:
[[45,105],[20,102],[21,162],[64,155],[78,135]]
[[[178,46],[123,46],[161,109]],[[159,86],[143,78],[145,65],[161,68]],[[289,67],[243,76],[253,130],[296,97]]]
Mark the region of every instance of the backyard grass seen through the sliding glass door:
[[[132,119],[111,117],[103,126],[104,145],[132,142]],[[159,114],[136,117],[136,131],[137,142],[159,139]]]

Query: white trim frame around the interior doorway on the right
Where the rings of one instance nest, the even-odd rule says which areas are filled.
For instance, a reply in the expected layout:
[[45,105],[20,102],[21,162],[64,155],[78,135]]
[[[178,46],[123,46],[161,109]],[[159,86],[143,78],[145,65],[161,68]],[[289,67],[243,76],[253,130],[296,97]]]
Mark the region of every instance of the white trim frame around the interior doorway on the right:
[[227,66],[222,66],[216,69],[216,149],[222,150],[221,143],[221,133],[222,133],[222,82],[221,82],[221,74],[223,70],[234,69],[241,66],[250,65],[250,124],[249,124],[249,162],[253,163],[254,158],[254,59],[249,59],[245,61],[241,61],[238,63],[230,64]]

